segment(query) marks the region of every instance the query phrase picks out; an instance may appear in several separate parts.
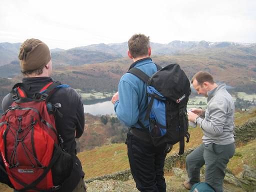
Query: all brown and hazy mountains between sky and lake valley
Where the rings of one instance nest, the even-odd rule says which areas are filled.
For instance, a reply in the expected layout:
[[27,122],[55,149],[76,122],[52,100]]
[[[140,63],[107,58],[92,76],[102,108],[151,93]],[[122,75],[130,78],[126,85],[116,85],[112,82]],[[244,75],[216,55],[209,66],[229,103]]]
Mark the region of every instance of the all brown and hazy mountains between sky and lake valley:
[[[17,59],[12,56],[12,59],[10,57],[6,61],[6,55],[17,54],[15,51],[18,51],[19,45],[20,43],[0,43],[0,61],[3,62],[5,58],[4,63],[7,63],[1,66],[1,77],[13,77],[19,73]],[[151,47],[152,56],[157,58],[157,63],[166,65],[178,62],[185,67],[189,77],[198,70],[206,70],[216,75],[217,80],[228,82],[231,86],[239,86],[245,91],[250,92],[249,88],[256,87],[256,43],[174,40],[166,44],[152,42]],[[75,86],[80,85],[76,76],[91,80],[91,84],[86,82],[86,86],[82,87],[86,90],[90,88],[116,90],[117,79],[127,70],[131,62],[127,59],[126,50],[127,42],[92,44],[67,50],[56,48],[51,50],[53,69],[57,68],[61,71],[61,75],[68,74],[61,76],[57,73],[57,77],[60,75],[64,81],[67,80],[72,84],[76,82]],[[92,68],[92,71],[83,65],[90,63],[93,66],[88,68]],[[101,64],[95,65],[95,63]],[[113,63],[116,64],[112,65]],[[65,72],[70,69],[74,70],[74,73]],[[110,74],[111,71],[112,74]],[[98,86],[96,86],[97,79],[100,79]],[[105,85],[107,82],[108,84]]]

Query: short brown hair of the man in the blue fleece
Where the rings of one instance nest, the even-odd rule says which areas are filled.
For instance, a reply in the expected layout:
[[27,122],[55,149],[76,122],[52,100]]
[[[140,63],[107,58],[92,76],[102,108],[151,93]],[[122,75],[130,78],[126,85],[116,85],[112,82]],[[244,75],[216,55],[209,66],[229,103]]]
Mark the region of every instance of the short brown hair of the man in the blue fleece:
[[133,34],[128,40],[128,48],[133,58],[147,55],[149,48],[149,36],[140,33]]

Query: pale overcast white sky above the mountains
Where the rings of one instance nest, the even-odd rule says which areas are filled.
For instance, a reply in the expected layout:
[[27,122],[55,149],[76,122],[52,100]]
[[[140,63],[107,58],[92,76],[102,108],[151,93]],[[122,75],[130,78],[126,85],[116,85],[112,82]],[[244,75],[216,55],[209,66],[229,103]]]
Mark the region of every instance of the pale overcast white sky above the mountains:
[[158,43],[256,43],[256,0],[0,0],[0,42],[68,49],[134,33]]

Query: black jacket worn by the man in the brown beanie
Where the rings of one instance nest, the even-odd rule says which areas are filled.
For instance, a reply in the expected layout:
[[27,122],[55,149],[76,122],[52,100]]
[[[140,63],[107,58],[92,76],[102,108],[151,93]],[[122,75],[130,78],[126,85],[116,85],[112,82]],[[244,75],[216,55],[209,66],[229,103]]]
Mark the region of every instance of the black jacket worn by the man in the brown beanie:
[[[25,77],[22,83],[27,85],[29,90],[25,91],[28,97],[32,97],[34,93],[52,81],[51,77]],[[12,103],[12,94],[8,93],[2,100],[2,110],[5,111]],[[79,138],[84,130],[84,112],[80,95],[71,87],[61,87],[51,95],[49,102],[52,104],[60,103],[59,111],[63,114],[61,118],[55,115],[56,128],[64,141],[64,147],[72,154],[74,165],[71,175],[63,183],[63,186],[57,190],[59,192],[72,191],[81,177],[84,176],[80,160],[76,156],[75,138]]]

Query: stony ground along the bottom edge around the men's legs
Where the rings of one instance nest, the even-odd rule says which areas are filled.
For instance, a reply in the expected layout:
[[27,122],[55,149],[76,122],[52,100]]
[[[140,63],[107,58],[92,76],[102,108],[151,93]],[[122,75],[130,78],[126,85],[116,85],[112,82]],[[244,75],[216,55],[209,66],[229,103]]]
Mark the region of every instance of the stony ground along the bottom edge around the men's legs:
[[[256,179],[255,179],[255,170],[249,170],[249,167],[244,167],[244,171],[241,174],[241,177],[243,177],[243,183],[239,178],[236,178],[230,171],[226,171],[226,176],[224,180],[224,192],[243,192],[243,191],[256,191]],[[247,171],[247,172],[246,172]],[[167,192],[185,192],[188,191],[183,187],[183,181],[187,179],[186,171],[184,169],[180,168],[173,168],[172,175],[165,176],[166,181],[166,191]],[[251,186],[250,189],[244,188],[244,177],[249,176],[249,185]],[[254,178],[253,178],[254,176]],[[203,175],[203,169],[201,173],[201,180],[204,179]],[[254,179],[254,183],[251,181]],[[132,176],[130,175],[126,181],[122,180],[115,180],[113,178],[105,178],[103,180],[93,180],[89,183],[86,183],[87,185],[87,191],[88,192],[95,192],[95,191],[112,191],[112,192],[137,192],[135,182],[132,179]],[[248,183],[246,183],[246,186],[249,186]],[[255,187],[253,187],[253,185]]]

